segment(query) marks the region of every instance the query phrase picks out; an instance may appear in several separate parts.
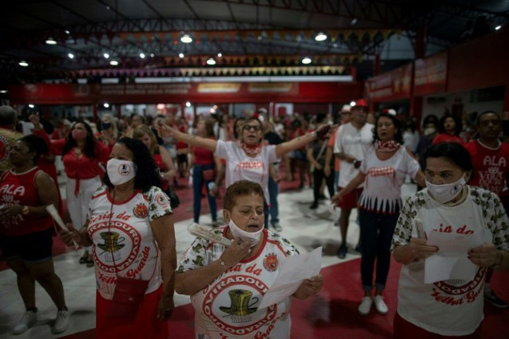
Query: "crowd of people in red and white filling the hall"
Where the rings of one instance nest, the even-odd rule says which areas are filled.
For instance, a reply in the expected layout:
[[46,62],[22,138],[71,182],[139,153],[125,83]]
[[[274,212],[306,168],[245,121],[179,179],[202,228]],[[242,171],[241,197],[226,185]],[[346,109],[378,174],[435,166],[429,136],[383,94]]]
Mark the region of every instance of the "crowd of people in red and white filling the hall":
[[[24,128],[17,128],[17,112],[0,107],[0,248],[26,308],[14,333],[37,319],[36,281],[57,306],[55,332],[68,325],[62,282],[53,269],[53,223],[45,210],[53,204],[62,212],[55,156],[62,156],[68,178],[72,221],[59,234],[66,244],[84,248],[80,264],[95,267],[98,338],[113,332],[167,338],[164,321],[172,315],[174,291],[191,296],[197,338],[223,338],[225,328],[214,319],[225,317],[225,326],[237,331],[228,333],[232,338],[288,338],[289,297],[270,306],[269,319],[267,309],[256,307],[263,288],[230,284],[242,276],[270,286],[277,274],[252,275],[247,268],[266,265],[258,261],[267,255],[283,262],[298,254],[282,237],[290,226],[279,223],[282,179],[296,179],[299,189],[313,187],[311,210],[323,199],[340,208],[340,259],[349,253],[349,217],[358,209],[360,315],[369,314],[373,304],[380,315],[388,313],[384,290],[391,255],[403,264],[396,338],[410,333],[479,338],[483,300],[508,307],[490,288],[494,270],[509,269],[509,145],[497,112],[476,116],[472,140],[465,140],[470,134],[462,133],[456,116],[426,116],[420,135],[414,120],[392,109],[369,112],[363,99],[334,114],[281,118],[259,109],[236,119],[198,115],[189,125],[173,113],[121,120],[104,114],[99,125],[62,120],[48,131],[49,122],[41,118],[28,114]],[[179,177],[192,178],[194,222],[206,196],[212,232],[232,245],[198,237],[177,262],[169,196]],[[417,192],[402,201],[408,177]],[[223,199],[223,220],[217,199]],[[470,248],[459,262],[471,275],[429,280],[425,267],[443,264],[441,254],[454,252],[447,241],[441,247],[428,244],[437,232],[465,237]],[[322,275],[304,280],[293,297],[319,293],[323,283]],[[201,293],[218,286],[223,295],[214,298],[231,300],[230,308]]]

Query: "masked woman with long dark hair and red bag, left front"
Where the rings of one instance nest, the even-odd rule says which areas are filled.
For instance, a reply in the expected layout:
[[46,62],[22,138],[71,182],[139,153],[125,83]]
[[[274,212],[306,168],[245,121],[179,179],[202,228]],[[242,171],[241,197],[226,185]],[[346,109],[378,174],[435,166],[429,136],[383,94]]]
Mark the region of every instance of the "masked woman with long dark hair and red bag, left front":
[[[147,146],[137,139],[118,140],[104,184],[92,196],[85,225],[60,232],[68,245],[74,240],[93,248],[96,336],[168,338],[165,320],[174,309],[175,232],[172,208],[158,187],[160,176]],[[129,314],[125,299],[136,297],[132,286],[122,285],[125,281],[142,285],[141,300]],[[122,297],[124,302],[117,303]]]

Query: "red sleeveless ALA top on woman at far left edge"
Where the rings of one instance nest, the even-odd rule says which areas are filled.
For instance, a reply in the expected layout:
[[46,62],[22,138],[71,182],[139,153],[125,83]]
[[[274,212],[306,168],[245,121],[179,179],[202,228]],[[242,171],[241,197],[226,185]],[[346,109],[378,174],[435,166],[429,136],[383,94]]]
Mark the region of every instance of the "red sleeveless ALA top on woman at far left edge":
[[[39,192],[37,192],[35,186],[35,177],[38,174],[46,175],[39,167],[33,167],[32,170],[19,174],[12,172],[12,170],[6,172],[0,183],[0,205],[42,205]],[[28,235],[33,232],[47,230],[51,226],[53,226],[53,219],[49,215],[38,217],[34,214],[24,215],[20,213],[10,219],[2,219],[0,234],[11,237]]]

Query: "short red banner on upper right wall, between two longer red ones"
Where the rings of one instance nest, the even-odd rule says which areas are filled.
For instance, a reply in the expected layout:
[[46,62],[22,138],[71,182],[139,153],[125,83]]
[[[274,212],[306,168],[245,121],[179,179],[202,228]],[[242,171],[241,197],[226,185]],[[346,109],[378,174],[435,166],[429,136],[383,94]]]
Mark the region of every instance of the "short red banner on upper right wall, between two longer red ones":
[[415,61],[414,95],[447,91],[447,51]]

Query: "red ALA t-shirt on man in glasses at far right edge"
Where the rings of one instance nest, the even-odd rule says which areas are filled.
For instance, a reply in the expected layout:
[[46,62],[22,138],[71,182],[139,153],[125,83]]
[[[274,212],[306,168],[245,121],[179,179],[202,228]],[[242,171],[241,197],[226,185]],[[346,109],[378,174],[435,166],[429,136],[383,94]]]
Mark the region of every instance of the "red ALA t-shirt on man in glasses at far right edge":
[[472,157],[474,174],[469,185],[479,186],[498,195],[509,172],[509,145],[500,143],[497,149],[486,147],[479,140],[464,145]]

